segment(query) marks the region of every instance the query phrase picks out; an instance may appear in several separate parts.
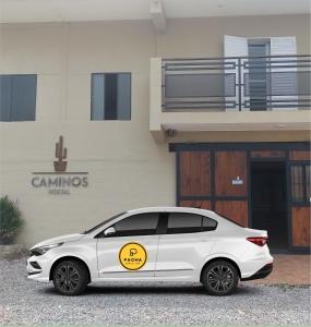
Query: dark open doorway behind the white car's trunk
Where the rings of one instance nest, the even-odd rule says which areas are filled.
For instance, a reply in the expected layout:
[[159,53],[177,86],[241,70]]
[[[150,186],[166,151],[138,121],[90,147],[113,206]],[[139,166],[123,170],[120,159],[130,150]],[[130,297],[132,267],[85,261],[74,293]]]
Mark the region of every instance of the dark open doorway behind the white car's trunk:
[[251,217],[274,252],[288,249],[285,162],[251,162]]

